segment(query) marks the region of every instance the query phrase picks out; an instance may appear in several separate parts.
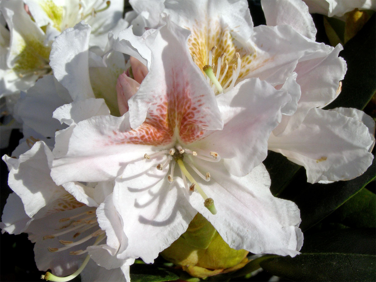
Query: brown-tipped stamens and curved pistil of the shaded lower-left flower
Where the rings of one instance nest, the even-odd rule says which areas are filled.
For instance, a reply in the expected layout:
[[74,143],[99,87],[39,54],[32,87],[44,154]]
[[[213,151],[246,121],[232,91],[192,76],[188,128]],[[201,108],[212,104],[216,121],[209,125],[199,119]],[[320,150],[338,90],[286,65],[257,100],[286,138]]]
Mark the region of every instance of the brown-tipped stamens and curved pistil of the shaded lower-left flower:
[[[64,235],[70,232],[72,233],[74,232],[72,236],[73,239],[76,237],[79,237],[82,233],[86,233],[88,235],[86,235],[82,239],[75,241],[75,242],[70,241],[70,240],[69,241],[59,240],[59,243],[64,245],[64,247],[60,247],[60,248],[49,247],[48,250],[50,252],[55,253],[55,252],[61,252],[61,251],[70,249],[71,247],[78,246],[82,243],[85,243],[86,241],[94,237],[97,237],[97,239],[94,242],[94,244],[92,244],[91,246],[97,246],[100,242],[102,242],[106,238],[105,231],[100,228],[96,229],[94,232],[92,232],[92,230],[89,231],[90,229],[94,229],[95,227],[98,227],[99,225],[97,218],[96,218],[96,209],[91,209],[89,211],[85,211],[80,214],[73,215],[71,217],[61,218],[59,220],[59,223],[68,222],[68,221],[69,223],[67,225],[60,228],[62,230],[61,232],[46,235],[43,237],[43,240],[54,239],[55,237],[59,237],[61,235]],[[87,248],[85,250],[70,251],[69,254],[70,255],[82,255],[83,253],[86,253],[86,252],[87,252]],[[56,282],[69,281],[81,273],[81,271],[86,267],[86,264],[88,264],[89,259],[90,259],[90,256],[89,255],[86,256],[80,268],[69,276],[59,277],[59,276],[53,275],[50,272],[47,272],[41,276],[41,279],[45,279],[49,281],[56,281]]]

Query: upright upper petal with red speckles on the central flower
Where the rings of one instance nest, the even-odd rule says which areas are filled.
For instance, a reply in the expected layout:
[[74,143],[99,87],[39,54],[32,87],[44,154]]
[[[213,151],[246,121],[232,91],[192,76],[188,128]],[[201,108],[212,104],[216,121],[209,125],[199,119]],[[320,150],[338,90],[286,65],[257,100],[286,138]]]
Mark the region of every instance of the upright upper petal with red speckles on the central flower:
[[152,65],[138,92],[128,101],[131,127],[138,127],[147,116],[168,114],[172,129],[181,123],[182,139],[190,138],[182,136],[188,127],[190,132],[194,130],[190,135],[199,133],[200,128],[222,129],[213,91],[186,48],[189,31],[168,18],[162,19],[162,23],[146,39],[152,50]]

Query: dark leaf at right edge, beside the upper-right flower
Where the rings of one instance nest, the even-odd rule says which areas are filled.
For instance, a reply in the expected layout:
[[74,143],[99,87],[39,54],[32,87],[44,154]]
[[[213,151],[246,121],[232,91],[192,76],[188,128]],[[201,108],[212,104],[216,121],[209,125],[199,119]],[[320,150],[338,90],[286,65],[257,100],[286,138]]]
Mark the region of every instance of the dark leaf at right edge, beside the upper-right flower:
[[345,45],[340,56],[347,62],[342,92],[324,109],[350,107],[364,109],[376,90],[375,15]]

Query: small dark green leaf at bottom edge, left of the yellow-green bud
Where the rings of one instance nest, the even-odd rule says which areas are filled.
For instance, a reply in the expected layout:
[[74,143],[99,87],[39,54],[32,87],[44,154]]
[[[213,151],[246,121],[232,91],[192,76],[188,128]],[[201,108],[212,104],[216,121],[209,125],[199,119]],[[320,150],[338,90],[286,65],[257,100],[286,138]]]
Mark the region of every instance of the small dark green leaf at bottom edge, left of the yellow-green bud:
[[160,282],[177,280],[179,276],[164,268],[147,264],[133,264],[130,267],[130,280],[133,282]]

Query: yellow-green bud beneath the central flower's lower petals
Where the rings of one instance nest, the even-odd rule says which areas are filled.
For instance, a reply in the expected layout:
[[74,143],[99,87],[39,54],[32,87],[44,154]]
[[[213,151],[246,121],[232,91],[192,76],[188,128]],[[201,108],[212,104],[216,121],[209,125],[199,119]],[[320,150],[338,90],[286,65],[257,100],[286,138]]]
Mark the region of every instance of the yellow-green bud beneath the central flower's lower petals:
[[243,267],[248,251],[231,249],[217,230],[197,213],[183,233],[161,255],[194,277],[205,278]]

